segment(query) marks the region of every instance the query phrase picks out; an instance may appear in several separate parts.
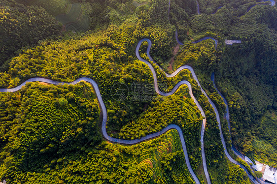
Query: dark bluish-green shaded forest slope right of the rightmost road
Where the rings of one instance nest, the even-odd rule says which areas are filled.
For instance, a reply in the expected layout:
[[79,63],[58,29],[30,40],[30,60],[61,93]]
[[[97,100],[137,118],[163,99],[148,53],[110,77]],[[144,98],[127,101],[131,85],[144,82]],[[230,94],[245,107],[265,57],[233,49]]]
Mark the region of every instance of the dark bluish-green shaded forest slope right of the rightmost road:
[[[254,14],[256,20],[252,20]],[[263,16],[271,20],[264,19]],[[253,7],[243,17],[244,24],[237,28],[238,31],[245,30],[245,28],[249,30],[247,34],[244,34],[245,37],[242,37],[245,41],[242,45],[227,47],[224,51],[226,54],[219,63],[217,79],[220,82],[221,91],[230,104],[233,143],[242,153],[246,153],[252,159],[263,157],[262,154],[253,156],[255,152],[262,149],[252,145],[255,139],[269,141],[275,149],[277,148],[274,143],[276,137],[267,136],[272,133],[265,131],[268,127],[262,123],[265,114],[272,114],[274,119],[277,110],[277,91],[275,90],[277,85],[277,30],[276,21],[273,21],[276,19],[276,8]],[[246,22],[252,24],[248,26]],[[276,123],[271,126],[276,126]],[[269,162],[266,163],[276,166],[275,154],[268,154]]]

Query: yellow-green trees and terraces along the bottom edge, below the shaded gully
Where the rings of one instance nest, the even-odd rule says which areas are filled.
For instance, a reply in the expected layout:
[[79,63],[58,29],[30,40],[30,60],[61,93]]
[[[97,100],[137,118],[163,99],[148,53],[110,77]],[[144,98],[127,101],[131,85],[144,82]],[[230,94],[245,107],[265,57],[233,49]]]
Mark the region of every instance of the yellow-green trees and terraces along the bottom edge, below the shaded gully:
[[[121,146],[103,141],[78,153],[49,160],[35,172],[17,173],[15,181],[24,184],[193,184],[185,166],[184,154],[176,130],[170,130],[153,140],[133,146]],[[5,164],[12,160],[6,159]],[[171,168],[171,169],[166,169]],[[170,171],[174,171],[173,174]],[[1,174],[5,171],[0,167]],[[178,171],[178,172],[177,172]],[[179,179],[178,179],[179,178]],[[179,180],[179,182],[177,181]]]

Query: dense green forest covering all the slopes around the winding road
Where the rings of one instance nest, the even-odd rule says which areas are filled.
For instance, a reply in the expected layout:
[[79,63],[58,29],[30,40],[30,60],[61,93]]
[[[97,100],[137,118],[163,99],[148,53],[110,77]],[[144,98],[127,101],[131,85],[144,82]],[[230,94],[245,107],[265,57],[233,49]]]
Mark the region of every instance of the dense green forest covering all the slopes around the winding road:
[[[16,87],[32,77],[63,82],[92,78],[107,109],[110,136],[133,140],[177,124],[194,172],[207,183],[200,142],[203,117],[186,86],[168,97],[154,92],[149,67],[135,55],[138,41],[149,38],[150,55],[165,71],[172,73],[182,65],[194,68],[219,111],[229,153],[232,138],[252,160],[277,167],[276,5],[198,2],[201,14],[195,0],[2,0],[0,88]],[[262,5],[253,6],[257,3]],[[175,31],[184,45],[176,43]],[[210,39],[193,43],[205,36],[217,39],[217,48]],[[225,46],[225,39],[240,39],[242,44]],[[144,42],[139,54],[150,61],[147,46]],[[151,64],[163,92],[181,80],[190,82],[207,119],[204,147],[211,182],[249,184],[243,169],[226,158],[214,110],[190,71],[168,78]],[[223,119],[226,106],[210,81],[212,72],[229,105],[231,134]],[[126,99],[112,95],[118,83],[129,89]],[[136,93],[137,84],[152,90]],[[135,98],[145,95],[148,100]],[[101,123],[96,94],[85,82],[28,83],[18,92],[0,93],[0,180],[194,183],[176,130],[125,146],[104,140]]]

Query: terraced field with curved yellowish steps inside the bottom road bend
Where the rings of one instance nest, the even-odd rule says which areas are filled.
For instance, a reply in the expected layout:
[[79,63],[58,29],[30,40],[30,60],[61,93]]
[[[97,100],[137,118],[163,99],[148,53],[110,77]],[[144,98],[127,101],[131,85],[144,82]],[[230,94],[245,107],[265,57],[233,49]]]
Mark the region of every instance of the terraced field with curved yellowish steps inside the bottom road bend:
[[[152,145],[152,146],[150,146]],[[153,145],[156,145],[153,147]],[[171,129],[167,133],[161,135],[157,139],[148,140],[138,145],[131,146],[130,150],[143,150],[138,151],[130,156],[130,154],[124,154],[125,146],[109,144],[110,150],[113,152],[121,153],[119,156],[120,162],[126,165],[130,163],[137,163],[138,165],[146,165],[149,168],[150,175],[153,176],[155,183],[172,183],[175,180],[181,180],[185,183],[193,183],[191,176],[184,161],[184,154],[177,130]],[[147,148],[148,149],[145,149]],[[183,159],[182,161],[178,159]],[[176,164],[172,167],[171,164]],[[173,171],[172,171],[173,169]],[[167,170],[175,172],[177,178],[172,178],[167,175]],[[182,182],[180,182],[182,183]]]

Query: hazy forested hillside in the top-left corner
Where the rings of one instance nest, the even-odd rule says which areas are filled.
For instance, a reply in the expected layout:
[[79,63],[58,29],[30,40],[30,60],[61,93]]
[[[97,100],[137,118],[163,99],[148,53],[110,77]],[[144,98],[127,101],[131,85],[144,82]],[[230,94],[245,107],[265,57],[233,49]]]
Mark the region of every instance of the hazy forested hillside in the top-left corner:
[[16,0],[1,0],[0,65],[15,55],[18,49],[28,48],[41,39],[57,35],[61,29],[62,25],[41,7],[25,6]]

